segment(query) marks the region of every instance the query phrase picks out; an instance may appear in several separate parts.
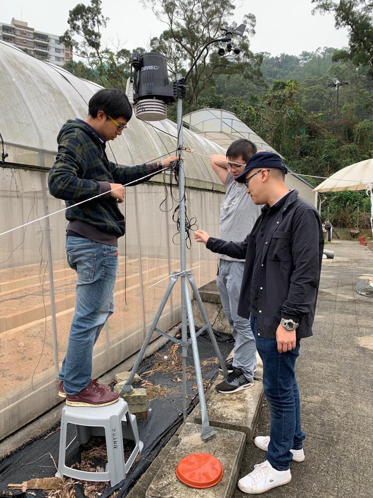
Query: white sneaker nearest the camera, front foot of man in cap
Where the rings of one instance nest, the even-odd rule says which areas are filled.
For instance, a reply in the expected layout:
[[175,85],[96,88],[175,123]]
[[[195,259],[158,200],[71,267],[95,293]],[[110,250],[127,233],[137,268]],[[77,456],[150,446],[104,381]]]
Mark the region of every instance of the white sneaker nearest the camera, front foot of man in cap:
[[238,487],[249,495],[259,495],[291,481],[290,469],[276,470],[266,460],[254,465],[254,470],[238,481]]

